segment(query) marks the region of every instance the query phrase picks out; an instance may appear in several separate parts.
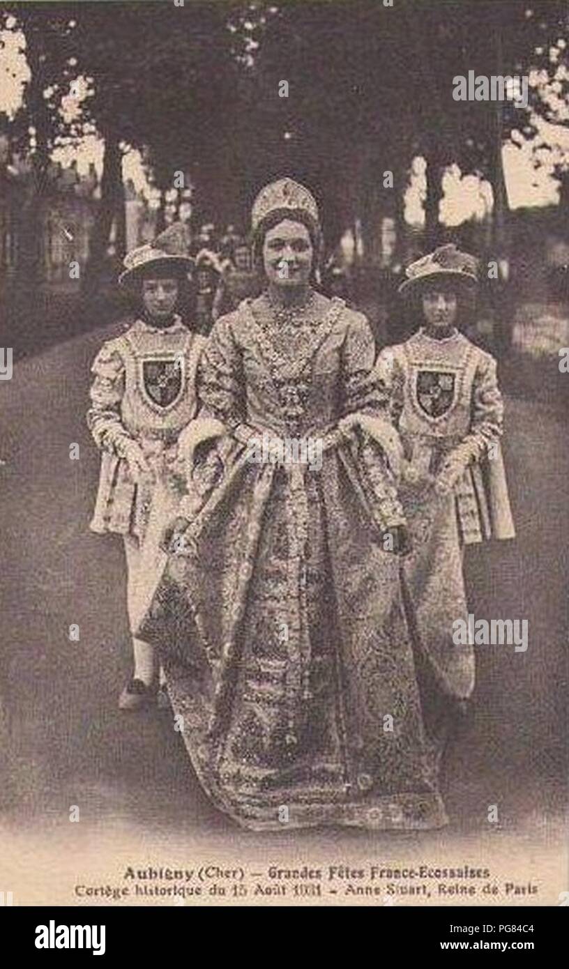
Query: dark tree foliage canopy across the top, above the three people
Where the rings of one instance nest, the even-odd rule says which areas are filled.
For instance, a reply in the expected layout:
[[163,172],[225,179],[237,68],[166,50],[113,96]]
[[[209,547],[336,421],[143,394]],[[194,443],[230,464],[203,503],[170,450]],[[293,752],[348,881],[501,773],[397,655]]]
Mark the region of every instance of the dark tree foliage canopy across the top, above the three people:
[[[7,130],[15,148],[27,145],[36,184],[58,141],[79,139],[88,126],[105,140],[95,266],[123,208],[128,145],[142,149],[161,191],[175,171],[189,172],[198,215],[216,221],[241,217],[260,184],[293,173],[323,200],[331,244],[356,218],[371,237],[382,213],[400,217],[411,159],[423,154],[427,229],[436,234],[442,169],[454,162],[487,177],[498,199],[501,143],[520,126],[515,109],[455,101],[454,78],[527,71],[539,61],[538,35],[559,36],[566,16],[557,0],[397,0],[393,8],[379,0],[149,0],[4,10],[24,30],[32,72]],[[555,97],[567,102],[553,67],[542,65],[547,80],[532,95],[534,114],[554,114]],[[62,99],[78,76],[89,94],[70,122]],[[385,171],[394,172],[393,190],[383,186]]]

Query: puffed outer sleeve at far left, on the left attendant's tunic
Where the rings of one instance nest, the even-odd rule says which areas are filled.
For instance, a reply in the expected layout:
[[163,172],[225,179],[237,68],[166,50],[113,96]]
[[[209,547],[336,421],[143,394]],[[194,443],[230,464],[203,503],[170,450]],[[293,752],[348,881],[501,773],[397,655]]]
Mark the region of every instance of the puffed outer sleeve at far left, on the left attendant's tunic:
[[98,448],[121,455],[128,431],[120,420],[120,401],[124,393],[124,361],[114,341],[106,343],[91,366],[94,374],[89,391],[91,406],[87,426]]

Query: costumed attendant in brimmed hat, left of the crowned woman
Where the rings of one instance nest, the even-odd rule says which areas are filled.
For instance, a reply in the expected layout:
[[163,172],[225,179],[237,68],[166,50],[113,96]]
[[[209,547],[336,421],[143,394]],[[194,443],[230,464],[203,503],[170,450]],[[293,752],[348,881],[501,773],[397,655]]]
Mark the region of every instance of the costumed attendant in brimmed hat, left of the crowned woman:
[[[87,423],[102,460],[90,527],[123,536],[132,631],[153,491],[158,483],[175,488],[177,439],[196,415],[195,375],[205,345],[175,312],[194,264],[171,251],[173,238],[167,230],[126,256],[119,285],[137,300],[139,315],[123,335],[103,345],[91,368]],[[137,709],[156,693],[153,646],[133,636],[133,650],[134,675],[120,695],[121,709]]]

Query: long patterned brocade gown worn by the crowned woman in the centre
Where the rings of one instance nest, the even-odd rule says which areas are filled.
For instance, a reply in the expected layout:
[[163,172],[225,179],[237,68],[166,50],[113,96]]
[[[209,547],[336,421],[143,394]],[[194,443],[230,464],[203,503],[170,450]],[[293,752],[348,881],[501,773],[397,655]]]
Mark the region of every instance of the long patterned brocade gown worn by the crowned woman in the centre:
[[[384,550],[403,520],[400,455],[374,356],[365,317],[314,294],[287,325],[267,296],[244,300],[201,359],[190,524],[138,635],[161,647],[205,791],[246,828],[447,823],[400,559]],[[252,462],[262,430],[322,439],[321,468]]]

